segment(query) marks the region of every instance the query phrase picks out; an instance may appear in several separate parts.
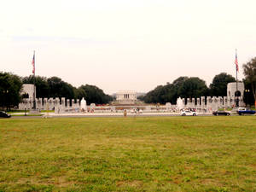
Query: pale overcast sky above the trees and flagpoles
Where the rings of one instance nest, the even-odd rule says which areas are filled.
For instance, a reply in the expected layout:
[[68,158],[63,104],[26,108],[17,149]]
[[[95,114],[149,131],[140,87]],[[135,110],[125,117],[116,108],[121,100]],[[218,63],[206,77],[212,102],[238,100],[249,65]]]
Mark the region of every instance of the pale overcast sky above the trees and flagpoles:
[[0,0],[0,71],[112,94],[180,76],[207,85],[256,56],[255,0]]

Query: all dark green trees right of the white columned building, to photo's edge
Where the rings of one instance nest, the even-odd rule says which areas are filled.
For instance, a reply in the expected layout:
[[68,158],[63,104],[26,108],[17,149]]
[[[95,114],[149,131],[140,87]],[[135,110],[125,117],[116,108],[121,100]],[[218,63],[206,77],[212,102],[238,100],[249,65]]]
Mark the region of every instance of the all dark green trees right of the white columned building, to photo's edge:
[[[256,101],[256,57],[243,65],[245,79],[244,102],[252,105]],[[236,79],[227,73],[219,73],[212,79],[212,84],[207,87],[203,79],[197,77],[179,77],[172,84],[158,85],[154,90],[150,90],[145,96],[138,99],[146,103],[171,102],[176,104],[177,98],[198,98],[201,96],[227,96],[227,84],[236,82]]]

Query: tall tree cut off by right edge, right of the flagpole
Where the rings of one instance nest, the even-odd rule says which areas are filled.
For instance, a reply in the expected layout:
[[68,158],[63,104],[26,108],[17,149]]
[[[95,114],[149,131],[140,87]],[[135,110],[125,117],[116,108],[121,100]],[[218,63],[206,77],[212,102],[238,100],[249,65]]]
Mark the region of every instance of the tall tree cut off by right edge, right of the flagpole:
[[256,57],[242,65],[243,74],[248,84],[250,84],[254,101],[256,101]]

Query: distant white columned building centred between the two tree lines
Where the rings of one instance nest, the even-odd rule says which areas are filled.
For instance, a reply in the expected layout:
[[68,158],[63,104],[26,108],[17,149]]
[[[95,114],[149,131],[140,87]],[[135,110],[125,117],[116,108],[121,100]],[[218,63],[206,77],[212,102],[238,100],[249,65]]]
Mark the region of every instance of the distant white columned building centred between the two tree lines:
[[132,104],[137,101],[137,92],[133,90],[120,90],[116,93],[116,100],[119,103]]

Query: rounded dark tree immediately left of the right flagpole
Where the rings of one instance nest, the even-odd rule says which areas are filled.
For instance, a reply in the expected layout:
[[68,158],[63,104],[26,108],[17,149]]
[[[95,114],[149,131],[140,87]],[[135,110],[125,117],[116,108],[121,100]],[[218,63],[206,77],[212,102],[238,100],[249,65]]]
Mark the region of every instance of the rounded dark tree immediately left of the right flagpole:
[[211,96],[227,96],[227,84],[235,82],[236,79],[227,73],[219,73],[212,79],[210,84]]

